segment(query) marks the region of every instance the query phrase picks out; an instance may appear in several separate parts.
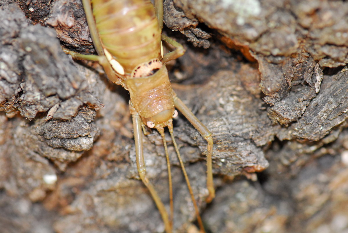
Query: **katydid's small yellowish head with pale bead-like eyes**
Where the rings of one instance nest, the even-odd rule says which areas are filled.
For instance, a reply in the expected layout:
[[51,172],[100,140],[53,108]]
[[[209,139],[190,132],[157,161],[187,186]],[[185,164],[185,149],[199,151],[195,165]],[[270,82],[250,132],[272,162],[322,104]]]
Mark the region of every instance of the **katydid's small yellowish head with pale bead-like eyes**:
[[152,117],[142,117],[143,123],[146,124],[149,128],[158,128],[168,126],[169,122],[172,122],[172,119],[177,116],[177,110],[174,108],[163,110]]

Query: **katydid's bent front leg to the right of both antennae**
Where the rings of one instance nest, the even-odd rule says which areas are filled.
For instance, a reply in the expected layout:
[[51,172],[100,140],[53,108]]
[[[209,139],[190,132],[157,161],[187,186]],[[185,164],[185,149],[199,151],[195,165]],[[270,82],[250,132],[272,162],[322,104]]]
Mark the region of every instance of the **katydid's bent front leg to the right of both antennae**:
[[190,109],[177,97],[173,91],[174,104],[177,109],[191,122],[191,124],[198,130],[198,132],[208,142],[207,145],[207,188],[209,196],[206,202],[211,202],[215,197],[215,189],[213,183],[213,171],[212,171],[212,153],[213,153],[213,138],[212,133],[201,123],[197,117],[190,111]]

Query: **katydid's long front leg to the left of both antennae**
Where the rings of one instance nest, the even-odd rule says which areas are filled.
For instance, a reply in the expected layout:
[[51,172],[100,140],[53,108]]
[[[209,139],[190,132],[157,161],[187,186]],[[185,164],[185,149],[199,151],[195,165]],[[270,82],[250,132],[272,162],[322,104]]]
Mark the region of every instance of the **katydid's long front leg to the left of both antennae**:
[[132,103],[129,102],[129,109],[130,113],[132,114],[133,118],[133,130],[134,130],[134,140],[135,140],[135,152],[136,152],[136,165],[139,172],[140,179],[143,181],[144,185],[148,188],[150,191],[150,194],[155,201],[157,208],[162,216],[164,227],[167,233],[172,232],[172,227],[169,222],[168,213],[166,208],[164,207],[163,202],[159,198],[155,188],[150,183],[149,179],[146,176],[146,170],[145,170],[145,162],[144,162],[144,156],[143,156],[143,140],[142,140],[142,129],[141,129],[141,118],[138,114],[138,112],[134,109],[132,106]]

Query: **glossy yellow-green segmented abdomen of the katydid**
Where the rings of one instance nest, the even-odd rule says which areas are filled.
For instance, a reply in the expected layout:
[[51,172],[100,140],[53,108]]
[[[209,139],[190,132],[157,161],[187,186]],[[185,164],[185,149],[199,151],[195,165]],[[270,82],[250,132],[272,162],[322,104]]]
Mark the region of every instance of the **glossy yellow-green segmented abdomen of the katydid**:
[[150,0],[92,0],[100,40],[126,73],[161,59],[161,31]]

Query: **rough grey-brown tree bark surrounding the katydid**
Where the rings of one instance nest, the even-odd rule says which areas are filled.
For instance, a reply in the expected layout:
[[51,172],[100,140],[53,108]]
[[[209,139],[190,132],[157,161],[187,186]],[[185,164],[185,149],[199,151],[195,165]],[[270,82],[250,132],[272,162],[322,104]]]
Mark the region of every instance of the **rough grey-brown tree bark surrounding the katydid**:
[[[348,3],[164,2],[163,33],[187,50],[168,64],[173,88],[213,133],[217,189],[207,205],[206,142],[175,121],[206,230],[346,232]],[[0,22],[1,231],[162,232],[137,180],[129,94],[97,63],[62,51],[95,52],[81,2],[2,1]],[[194,232],[167,142],[174,229]],[[169,205],[161,137],[143,143]]]

